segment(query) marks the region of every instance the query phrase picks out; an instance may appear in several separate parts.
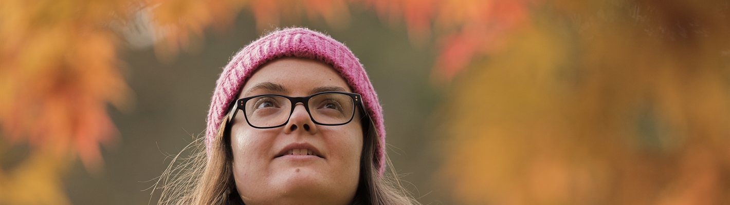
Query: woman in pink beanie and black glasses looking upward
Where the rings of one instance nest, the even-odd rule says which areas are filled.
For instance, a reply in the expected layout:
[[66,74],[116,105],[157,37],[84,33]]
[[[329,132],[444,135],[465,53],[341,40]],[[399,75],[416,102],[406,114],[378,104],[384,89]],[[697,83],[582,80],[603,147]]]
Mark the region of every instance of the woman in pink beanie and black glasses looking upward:
[[418,204],[383,176],[382,108],[364,68],[322,33],[274,31],[238,52],[207,123],[206,151],[166,170],[177,178],[159,204]]

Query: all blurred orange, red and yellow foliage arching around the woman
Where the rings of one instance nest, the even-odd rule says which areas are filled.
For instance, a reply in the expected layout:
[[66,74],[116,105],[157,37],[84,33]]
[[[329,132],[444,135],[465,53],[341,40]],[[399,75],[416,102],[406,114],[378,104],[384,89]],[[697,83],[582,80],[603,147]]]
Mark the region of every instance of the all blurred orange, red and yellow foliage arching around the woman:
[[0,154],[32,148],[0,169],[0,204],[66,204],[75,157],[100,169],[107,104],[131,106],[130,33],[170,61],[242,9],[263,30],[348,26],[353,5],[437,43],[442,180],[464,204],[730,203],[728,1],[6,0]]

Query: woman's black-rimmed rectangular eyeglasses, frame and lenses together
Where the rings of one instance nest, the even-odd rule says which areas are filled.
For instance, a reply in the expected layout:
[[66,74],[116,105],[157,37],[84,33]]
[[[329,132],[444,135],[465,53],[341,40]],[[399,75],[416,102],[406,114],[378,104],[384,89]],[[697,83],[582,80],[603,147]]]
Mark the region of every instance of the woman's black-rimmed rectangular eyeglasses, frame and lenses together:
[[250,126],[258,129],[283,126],[289,122],[297,103],[304,104],[315,124],[330,126],[350,123],[356,106],[363,106],[362,97],[350,92],[320,92],[307,97],[255,95],[234,101],[228,121],[236,117],[238,110],[243,110]]

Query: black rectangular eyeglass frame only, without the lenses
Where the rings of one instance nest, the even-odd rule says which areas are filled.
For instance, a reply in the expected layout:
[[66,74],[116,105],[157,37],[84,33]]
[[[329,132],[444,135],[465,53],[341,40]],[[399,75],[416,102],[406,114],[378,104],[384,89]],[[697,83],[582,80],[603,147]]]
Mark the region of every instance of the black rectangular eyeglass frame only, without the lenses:
[[[340,124],[323,124],[323,123],[316,121],[315,118],[312,117],[312,113],[310,112],[310,106],[309,106],[310,98],[315,97],[317,95],[324,95],[324,94],[330,94],[330,93],[339,93],[339,94],[344,94],[344,95],[352,97],[353,106],[354,106],[353,108],[357,108],[359,105],[361,112],[364,113],[365,115],[367,115],[367,112],[365,112],[365,110],[364,110],[365,104],[362,102],[362,96],[357,93],[328,91],[328,92],[318,92],[318,93],[312,94],[310,96],[304,96],[304,97],[289,97],[286,95],[278,95],[278,94],[264,94],[264,95],[254,95],[254,96],[250,96],[250,97],[240,98],[238,100],[235,100],[233,103],[231,103],[233,105],[231,105],[232,106],[231,111],[230,111],[231,113],[228,113],[228,123],[230,123],[236,117],[238,110],[242,110],[244,113],[243,116],[244,116],[244,118],[246,118],[246,123],[249,126],[252,126],[254,128],[269,129],[269,128],[275,128],[275,127],[279,127],[279,126],[284,126],[285,124],[289,123],[289,120],[291,119],[291,114],[294,113],[294,108],[296,108],[297,103],[301,103],[304,105],[304,109],[307,110],[307,114],[310,115],[310,119],[315,124],[326,125],[326,126],[338,126],[338,125],[348,124],[348,123],[350,123],[350,121],[353,121],[353,118],[355,118],[355,110],[357,110],[357,109],[353,109],[353,113],[350,115],[349,120],[347,120],[343,123],[340,123]],[[261,97],[261,96],[279,96],[279,97],[284,97],[291,102],[291,110],[289,111],[289,116],[286,118],[286,121],[283,124],[280,124],[277,126],[254,126],[253,124],[251,124],[248,121],[248,116],[246,115],[246,106],[245,106],[246,102],[255,97]]]

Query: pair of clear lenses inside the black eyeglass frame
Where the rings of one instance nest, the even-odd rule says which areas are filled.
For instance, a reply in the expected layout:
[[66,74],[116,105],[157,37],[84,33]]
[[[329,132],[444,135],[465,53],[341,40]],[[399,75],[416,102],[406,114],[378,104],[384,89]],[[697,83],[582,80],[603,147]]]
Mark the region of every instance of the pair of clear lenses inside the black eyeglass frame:
[[[342,124],[350,120],[355,103],[349,95],[324,93],[315,95],[307,102],[310,116],[319,124]],[[279,126],[286,123],[291,114],[291,101],[277,95],[264,95],[246,102],[246,118],[253,126]]]

